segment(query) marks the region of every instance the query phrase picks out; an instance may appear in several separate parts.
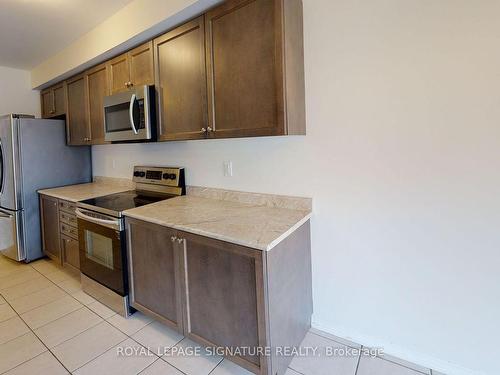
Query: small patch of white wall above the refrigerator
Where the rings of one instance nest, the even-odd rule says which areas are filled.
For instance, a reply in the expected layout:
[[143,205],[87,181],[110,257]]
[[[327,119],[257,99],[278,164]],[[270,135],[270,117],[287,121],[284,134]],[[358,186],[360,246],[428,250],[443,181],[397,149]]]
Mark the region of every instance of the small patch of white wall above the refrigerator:
[[0,116],[8,113],[40,117],[40,93],[31,89],[29,71],[0,66]]

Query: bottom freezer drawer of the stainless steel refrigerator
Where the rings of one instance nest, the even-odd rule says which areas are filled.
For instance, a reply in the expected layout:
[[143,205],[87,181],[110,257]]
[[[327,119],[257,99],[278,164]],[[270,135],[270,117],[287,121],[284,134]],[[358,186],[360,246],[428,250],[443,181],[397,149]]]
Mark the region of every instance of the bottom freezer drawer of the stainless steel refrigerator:
[[0,252],[14,260],[24,260],[23,211],[0,209]]

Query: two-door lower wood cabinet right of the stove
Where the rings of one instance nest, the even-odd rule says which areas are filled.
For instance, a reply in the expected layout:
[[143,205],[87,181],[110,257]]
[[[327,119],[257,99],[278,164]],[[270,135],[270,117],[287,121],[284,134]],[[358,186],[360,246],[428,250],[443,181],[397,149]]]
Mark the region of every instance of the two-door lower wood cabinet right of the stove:
[[243,349],[226,356],[256,374],[286,372],[292,357],[273,348],[299,346],[311,322],[309,222],[268,252],[136,219],[126,228],[133,307],[208,347]]

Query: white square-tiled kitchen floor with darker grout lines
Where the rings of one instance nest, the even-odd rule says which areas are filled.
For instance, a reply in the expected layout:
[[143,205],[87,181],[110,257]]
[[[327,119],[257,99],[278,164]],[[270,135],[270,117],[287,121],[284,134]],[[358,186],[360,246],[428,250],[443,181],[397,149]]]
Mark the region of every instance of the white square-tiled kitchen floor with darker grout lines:
[[[314,330],[302,345],[361,348]],[[52,261],[26,265],[0,257],[0,374],[250,375],[221,357],[183,355],[181,349],[196,346],[141,313],[129,319],[115,314],[81,290],[79,275]],[[128,351],[134,355],[120,355]],[[296,357],[286,373],[331,374],[432,371],[393,357],[356,354]]]

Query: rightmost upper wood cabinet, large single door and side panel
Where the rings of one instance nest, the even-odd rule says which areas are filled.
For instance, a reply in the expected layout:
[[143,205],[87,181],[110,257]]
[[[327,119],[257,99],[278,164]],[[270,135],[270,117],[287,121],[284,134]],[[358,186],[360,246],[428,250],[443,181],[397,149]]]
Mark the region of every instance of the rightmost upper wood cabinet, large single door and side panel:
[[305,134],[302,2],[226,1],[205,28],[209,135]]

